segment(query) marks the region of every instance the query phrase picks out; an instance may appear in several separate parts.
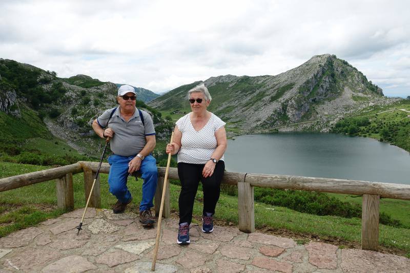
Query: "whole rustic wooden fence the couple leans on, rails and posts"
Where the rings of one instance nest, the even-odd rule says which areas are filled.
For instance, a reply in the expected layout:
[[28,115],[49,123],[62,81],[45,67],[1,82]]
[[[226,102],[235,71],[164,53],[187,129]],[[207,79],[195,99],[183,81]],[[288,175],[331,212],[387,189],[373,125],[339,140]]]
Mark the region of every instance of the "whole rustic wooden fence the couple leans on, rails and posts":
[[[39,182],[56,179],[57,204],[61,208],[74,208],[73,174],[84,172],[85,198],[90,194],[98,162],[79,161],[75,164],[56,167],[50,170],[17,175],[0,179],[0,192],[12,190]],[[110,165],[103,163],[100,173],[109,173]],[[155,193],[155,214],[159,213],[160,198],[164,183],[165,167],[158,167],[158,185]],[[176,168],[170,168],[169,179],[177,179]],[[325,193],[362,195],[362,249],[377,250],[379,241],[379,199],[393,198],[410,200],[410,185],[314,178],[286,175],[264,175],[226,172],[222,183],[238,186],[239,230],[245,233],[255,231],[254,187],[288,188],[292,190],[316,191]],[[91,207],[100,207],[99,178],[96,180]],[[170,192],[167,187],[163,217],[170,216]]]

